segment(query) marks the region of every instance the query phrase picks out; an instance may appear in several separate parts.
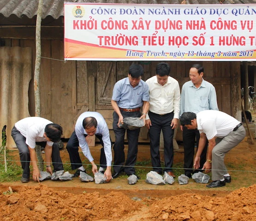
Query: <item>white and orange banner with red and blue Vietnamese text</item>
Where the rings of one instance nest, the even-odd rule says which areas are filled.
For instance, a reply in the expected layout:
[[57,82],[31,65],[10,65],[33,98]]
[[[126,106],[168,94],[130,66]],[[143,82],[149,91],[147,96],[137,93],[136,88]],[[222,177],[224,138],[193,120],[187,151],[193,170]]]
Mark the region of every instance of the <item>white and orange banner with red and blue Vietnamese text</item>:
[[256,4],[64,3],[64,26],[65,60],[256,60]]

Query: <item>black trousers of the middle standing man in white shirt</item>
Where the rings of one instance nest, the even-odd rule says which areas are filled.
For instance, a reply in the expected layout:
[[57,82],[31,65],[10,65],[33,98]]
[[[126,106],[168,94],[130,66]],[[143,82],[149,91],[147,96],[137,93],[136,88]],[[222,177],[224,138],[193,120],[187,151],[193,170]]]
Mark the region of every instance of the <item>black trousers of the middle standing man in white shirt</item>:
[[172,171],[173,167],[173,134],[174,130],[171,127],[173,120],[173,112],[165,115],[155,114],[149,111],[149,118],[152,126],[149,129],[150,138],[150,153],[153,170],[162,174],[161,161],[160,161],[160,133],[163,131],[164,138],[164,171]]

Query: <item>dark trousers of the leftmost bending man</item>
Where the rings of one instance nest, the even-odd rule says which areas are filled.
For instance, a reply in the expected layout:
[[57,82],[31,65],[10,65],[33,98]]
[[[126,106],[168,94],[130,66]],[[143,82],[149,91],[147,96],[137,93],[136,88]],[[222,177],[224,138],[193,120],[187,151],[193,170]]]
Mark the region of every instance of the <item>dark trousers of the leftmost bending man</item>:
[[[24,178],[29,178],[30,151],[28,145],[26,144],[26,138],[15,127],[12,128],[12,138],[17,145],[19,151],[20,162],[23,169],[22,176]],[[46,142],[36,142],[36,145],[40,145],[44,148],[46,146]],[[53,145],[52,163],[55,171],[63,170],[63,164],[60,158],[60,149],[57,143],[54,143]]]

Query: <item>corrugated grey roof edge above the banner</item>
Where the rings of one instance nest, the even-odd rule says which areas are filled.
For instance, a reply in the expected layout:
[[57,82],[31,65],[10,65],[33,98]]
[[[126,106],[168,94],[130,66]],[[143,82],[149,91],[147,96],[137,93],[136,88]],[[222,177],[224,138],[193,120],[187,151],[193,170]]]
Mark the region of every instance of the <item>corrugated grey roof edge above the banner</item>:
[[[65,2],[93,2],[120,4],[256,4],[256,0],[65,0]],[[0,14],[21,18],[36,15],[38,0],[0,0]],[[64,0],[43,0],[42,18],[51,16],[58,19],[64,15]]]

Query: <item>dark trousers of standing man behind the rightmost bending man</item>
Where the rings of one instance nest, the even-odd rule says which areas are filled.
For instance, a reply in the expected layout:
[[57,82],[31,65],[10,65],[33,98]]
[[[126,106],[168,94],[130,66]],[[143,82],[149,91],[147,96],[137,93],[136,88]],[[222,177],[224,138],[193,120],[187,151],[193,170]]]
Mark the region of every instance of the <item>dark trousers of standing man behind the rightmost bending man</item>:
[[[183,144],[184,144],[184,168],[185,173],[193,173],[193,159],[194,159],[194,152],[195,152],[195,139],[196,139],[196,150],[198,148],[200,134],[197,129],[189,130],[186,127],[183,127]],[[194,172],[199,172],[202,170],[203,164],[206,162],[206,154],[207,154],[207,146],[208,141],[206,142],[204,149],[202,151],[200,157],[200,168],[195,170]]]

